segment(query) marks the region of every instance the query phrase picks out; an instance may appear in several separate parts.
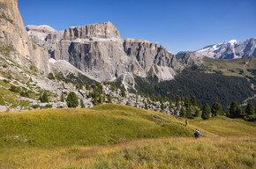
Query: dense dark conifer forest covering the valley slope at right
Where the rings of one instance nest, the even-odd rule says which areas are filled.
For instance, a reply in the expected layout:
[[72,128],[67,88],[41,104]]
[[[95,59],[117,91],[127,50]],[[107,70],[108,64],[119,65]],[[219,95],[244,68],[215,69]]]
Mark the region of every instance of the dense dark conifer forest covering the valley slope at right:
[[210,74],[199,70],[185,69],[170,81],[158,83],[157,77],[135,77],[136,89],[144,94],[167,96],[175,99],[177,95],[195,96],[198,104],[215,102],[222,103],[225,111],[230,106],[230,100],[242,103],[254,95],[251,82],[244,77],[227,77],[220,74]]

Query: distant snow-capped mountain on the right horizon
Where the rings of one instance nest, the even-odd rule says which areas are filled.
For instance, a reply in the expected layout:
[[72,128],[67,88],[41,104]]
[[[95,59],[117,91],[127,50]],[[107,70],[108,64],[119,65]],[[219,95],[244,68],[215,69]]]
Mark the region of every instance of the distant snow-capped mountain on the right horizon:
[[217,43],[197,50],[194,54],[198,57],[207,56],[215,59],[256,57],[256,39],[247,39],[242,43],[238,40]]

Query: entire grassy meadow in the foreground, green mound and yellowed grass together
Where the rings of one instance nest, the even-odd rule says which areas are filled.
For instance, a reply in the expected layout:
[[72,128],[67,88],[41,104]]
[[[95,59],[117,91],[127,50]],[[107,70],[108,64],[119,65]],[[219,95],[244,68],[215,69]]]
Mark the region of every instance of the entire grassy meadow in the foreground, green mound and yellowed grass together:
[[112,104],[0,114],[0,168],[255,167],[255,123],[184,120]]

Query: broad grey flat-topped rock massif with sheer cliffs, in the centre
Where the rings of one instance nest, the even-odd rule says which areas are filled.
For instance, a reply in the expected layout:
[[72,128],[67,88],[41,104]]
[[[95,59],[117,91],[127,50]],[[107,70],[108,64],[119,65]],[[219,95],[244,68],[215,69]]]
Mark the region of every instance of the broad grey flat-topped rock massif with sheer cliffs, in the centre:
[[[146,77],[152,68],[160,80],[174,77],[176,70],[184,68],[182,60],[177,61],[162,46],[147,40],[122,40],[117,28],[110,22],[77,26],[62,32],[51,32],[44,40],[41,27],[29,29],[31,38],[48,48],[49,54],[56,60],[71,62],[73,66],[85,72],[95,80],[113,80],[117,77],[129,78],[133,74]],[[191,56],[192,60],[196,57]],[[124,79],[125,81],[125,79]]]

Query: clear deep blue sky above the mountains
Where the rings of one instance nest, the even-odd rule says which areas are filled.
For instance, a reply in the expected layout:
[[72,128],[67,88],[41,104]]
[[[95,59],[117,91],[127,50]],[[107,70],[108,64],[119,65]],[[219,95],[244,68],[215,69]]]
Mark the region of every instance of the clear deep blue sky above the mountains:
[[110,21],[123,39],[162,44],[173,54],[256,38],[256,0],[18,0],[24,25],[56,30]]

